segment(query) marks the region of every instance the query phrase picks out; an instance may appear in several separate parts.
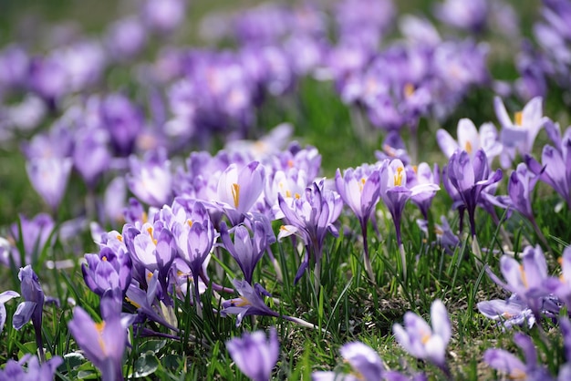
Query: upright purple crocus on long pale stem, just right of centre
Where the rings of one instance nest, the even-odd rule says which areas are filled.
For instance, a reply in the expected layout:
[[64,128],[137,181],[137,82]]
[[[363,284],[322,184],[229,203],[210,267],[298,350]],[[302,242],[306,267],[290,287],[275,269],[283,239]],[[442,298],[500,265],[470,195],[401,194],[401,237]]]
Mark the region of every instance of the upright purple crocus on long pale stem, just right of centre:
[[357,215],[363,234],[365,252],[365,268],[371,281],[374,281],[373,268],[370,263],[369,242],[367,240],[367,222],[379,202],[379,169],[373,166],[361,166],[356,170],[349,168],[343,172],[337,169],[335,185],[341,199]]

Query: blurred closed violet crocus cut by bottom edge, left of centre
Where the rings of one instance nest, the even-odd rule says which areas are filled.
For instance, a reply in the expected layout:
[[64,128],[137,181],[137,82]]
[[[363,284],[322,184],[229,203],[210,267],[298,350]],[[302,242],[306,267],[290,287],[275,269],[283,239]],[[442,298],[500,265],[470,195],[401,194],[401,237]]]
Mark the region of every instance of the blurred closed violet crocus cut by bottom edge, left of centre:
[[242,337],[234,337],[226,342],[228,352],[236,366],[245,376],[254,381],[268,381],[272,376],[272,369],[279,356],[279,342],[275,327],[270,329],[270,335],[256,331],[252,334],[244,333]]

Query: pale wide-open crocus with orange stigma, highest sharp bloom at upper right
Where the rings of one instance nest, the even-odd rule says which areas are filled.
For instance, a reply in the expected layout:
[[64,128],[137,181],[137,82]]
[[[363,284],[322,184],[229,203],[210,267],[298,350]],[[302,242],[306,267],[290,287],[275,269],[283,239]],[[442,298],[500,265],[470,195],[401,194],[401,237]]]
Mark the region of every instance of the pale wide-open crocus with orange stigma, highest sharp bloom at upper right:
[[516,153],[528,155],[534,148],[535,137],[545,126],[549,118],[543,116],[543,99],[535,97],[524,106],[522,111],[509,117],[502,98],[493,99],[495,114],[502,125],[501,140],[504,144],[504,155],[501,158],[504,167],[509,167],[515,160]]

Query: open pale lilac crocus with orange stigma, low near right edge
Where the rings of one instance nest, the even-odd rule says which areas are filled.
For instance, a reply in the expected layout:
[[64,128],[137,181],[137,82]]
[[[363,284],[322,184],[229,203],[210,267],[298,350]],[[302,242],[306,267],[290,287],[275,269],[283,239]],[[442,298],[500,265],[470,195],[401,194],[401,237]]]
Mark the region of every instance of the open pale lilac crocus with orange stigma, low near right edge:
[[541,247],[539,245],[525,247],[521,264],[513,257],[503,255],[500,259],[500,271],[504,275],[505,282],[486,267],[486,273],[493,282],[511,293],[516,293],[531,308],[535,320],[540,321],[544,297],[549,294],[545,287],[547,263]]

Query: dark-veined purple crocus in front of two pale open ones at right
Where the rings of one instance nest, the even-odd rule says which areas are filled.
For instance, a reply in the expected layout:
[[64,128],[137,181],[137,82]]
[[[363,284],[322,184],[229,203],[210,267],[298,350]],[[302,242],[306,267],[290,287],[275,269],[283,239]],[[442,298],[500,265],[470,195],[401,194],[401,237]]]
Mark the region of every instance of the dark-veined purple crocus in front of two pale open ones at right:
[[458,190],[463,207],[468,211],[473,238],[476,235],[475,212],[480,195],[486,187],[502,180],[502,170],[496,170],[490,175],[483,149],[478,149],[473,160],[470,160],[470,155],[465,150],[454,152],[446,168],[446,178]]

